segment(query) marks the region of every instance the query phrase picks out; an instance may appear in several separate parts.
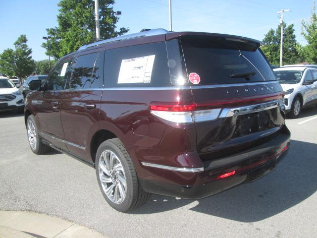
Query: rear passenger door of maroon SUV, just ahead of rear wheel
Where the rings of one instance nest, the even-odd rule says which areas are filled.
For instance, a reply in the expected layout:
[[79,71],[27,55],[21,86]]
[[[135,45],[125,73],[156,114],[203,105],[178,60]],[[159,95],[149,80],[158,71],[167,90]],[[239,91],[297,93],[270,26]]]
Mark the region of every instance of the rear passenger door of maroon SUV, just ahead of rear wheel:
[[100,49],[77,55],[62,98],[61,121],[66,146],[71,153],[88,161],[91,160],[87,139],[99,126],[104,56],[105,51]]

